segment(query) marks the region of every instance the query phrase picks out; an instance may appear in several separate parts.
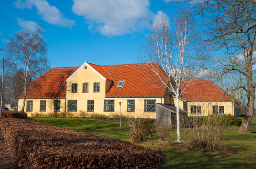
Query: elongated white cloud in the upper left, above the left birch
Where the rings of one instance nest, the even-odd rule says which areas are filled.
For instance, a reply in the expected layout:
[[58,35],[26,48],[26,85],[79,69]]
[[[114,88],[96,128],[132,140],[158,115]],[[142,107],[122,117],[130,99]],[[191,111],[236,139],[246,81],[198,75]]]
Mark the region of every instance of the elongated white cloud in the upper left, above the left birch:
[[53,25],[63,27],[72,27],[75,25],[74,20],[64,17],[58,8],[49,5],[46,0],[16,0],[14,6],[19,9],[32,9],[32,6],[35,6],[38,15],[41,15],[43,20]]

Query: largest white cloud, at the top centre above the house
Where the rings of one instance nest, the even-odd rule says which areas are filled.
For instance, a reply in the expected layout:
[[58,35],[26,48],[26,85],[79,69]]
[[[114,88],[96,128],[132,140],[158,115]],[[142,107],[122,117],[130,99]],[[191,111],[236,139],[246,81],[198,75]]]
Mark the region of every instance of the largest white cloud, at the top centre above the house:
[[73,0],[72,11],[83,16],[88,29],[115,36],[142,32],[151,25],[154,13],[148,0]]

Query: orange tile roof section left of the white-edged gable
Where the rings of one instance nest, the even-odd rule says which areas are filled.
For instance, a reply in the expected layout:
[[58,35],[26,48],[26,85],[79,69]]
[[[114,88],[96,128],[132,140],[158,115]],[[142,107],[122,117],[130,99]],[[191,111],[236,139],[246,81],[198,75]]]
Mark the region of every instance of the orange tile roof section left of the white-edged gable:
[[[66,79],[79,67],[55,67],[30,83],[27,98],[56,98],[66,96]],[[62,85],[65,85],[61,88]],[[23,98],[24,92],[19,98]]]

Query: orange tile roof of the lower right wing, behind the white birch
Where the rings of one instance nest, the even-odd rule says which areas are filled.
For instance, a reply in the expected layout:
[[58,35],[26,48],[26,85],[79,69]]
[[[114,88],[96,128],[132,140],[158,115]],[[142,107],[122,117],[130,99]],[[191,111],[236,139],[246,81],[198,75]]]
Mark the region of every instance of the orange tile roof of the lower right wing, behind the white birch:
[[184,90],[182,97],[191,102],[239,102],[210,80],[182,81],[182,90]]

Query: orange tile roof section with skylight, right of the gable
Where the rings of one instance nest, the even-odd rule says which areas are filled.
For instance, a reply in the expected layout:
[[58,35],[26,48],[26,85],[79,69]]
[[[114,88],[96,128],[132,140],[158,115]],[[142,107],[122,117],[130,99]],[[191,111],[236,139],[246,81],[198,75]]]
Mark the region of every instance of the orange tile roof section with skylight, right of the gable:
[[[164,82],[167,82],[159,65],[152,63],[152,66],[160,73]],[[105,97],[163,97],[165,94],[166,87],[150,70],[147,63],[103,65],[102,67],[114,80]],[[119,80],[125,80],[123,87],[117,87]]]

